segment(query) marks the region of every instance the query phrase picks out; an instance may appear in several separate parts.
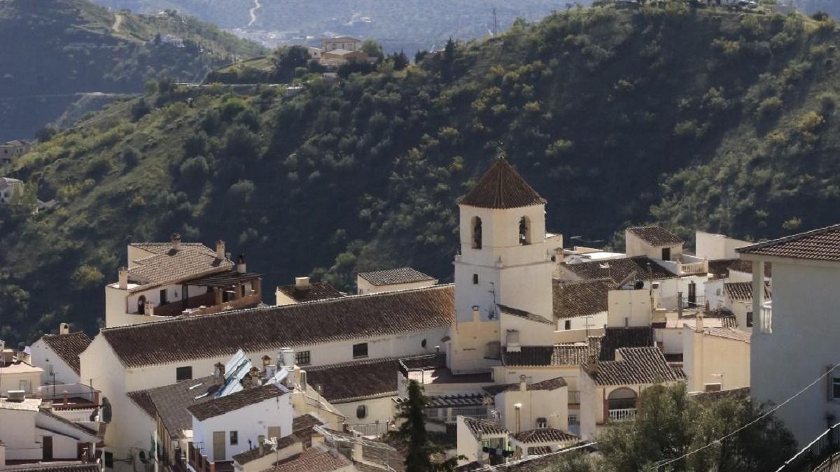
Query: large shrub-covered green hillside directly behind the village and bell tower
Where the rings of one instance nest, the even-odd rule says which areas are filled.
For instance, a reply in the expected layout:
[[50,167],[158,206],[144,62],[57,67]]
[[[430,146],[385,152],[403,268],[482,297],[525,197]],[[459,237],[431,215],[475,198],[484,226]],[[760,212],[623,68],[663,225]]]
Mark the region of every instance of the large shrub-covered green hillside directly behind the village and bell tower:
[[837,223],[838,41],[830,18],[668,3],[556,13],[335,83],[298,68],[296,97],[164,82],[7,169],[58,206],[0,213],[0,337],[93,331],[125,244],[174,232],[225,239],[265,287],[400,265],[448,280],[455,202],[500,147],[567,239]]

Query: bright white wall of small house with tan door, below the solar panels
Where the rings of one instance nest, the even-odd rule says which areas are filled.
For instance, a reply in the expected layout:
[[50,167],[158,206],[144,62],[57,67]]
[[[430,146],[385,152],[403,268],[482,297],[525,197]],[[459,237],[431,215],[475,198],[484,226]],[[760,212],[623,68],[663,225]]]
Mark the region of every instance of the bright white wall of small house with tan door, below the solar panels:
[[[269,427],[280,427],[281,438],[291,434],[291,398],[288,394],[244,406],[234,412],[198,421],[192,417],[193,443],[201,444],[202,454],[211,462],[213,454],[213,432],[223,431],[225,439],[225,460],[232,460],[236,454],[247,451],[248,441],[252,446],[259,444],[258,437],[268,438]],[[236,431],[238,441],[230,443],[230,432]]]

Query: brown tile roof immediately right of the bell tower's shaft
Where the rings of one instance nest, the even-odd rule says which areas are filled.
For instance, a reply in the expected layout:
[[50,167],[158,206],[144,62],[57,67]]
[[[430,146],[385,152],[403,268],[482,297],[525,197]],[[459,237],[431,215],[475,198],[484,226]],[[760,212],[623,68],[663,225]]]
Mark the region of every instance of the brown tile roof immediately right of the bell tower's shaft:
[[607,310],[607,294],[616,282],[605,277],[584,281],[554,281],[554,317],[573,318]]

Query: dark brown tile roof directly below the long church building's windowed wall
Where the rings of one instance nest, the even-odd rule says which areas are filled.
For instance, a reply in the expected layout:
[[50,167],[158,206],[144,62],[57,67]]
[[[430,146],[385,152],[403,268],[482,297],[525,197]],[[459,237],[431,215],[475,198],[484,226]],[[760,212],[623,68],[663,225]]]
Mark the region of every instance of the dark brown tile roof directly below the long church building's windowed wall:
[[307,384],[320,387],[331,403],[374,396],[394,396],[399,359],[365,359],[307,368]]

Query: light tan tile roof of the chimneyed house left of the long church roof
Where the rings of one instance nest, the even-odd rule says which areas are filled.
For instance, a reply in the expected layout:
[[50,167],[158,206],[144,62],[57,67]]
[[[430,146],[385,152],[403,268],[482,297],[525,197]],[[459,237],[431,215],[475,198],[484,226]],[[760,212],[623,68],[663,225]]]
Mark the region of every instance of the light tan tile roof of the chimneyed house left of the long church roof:
[[204,244],[181,243],[181,249],[172,249],[171,243],[134,243],[132,246],[153,253],[134,260],[129,268],[129,278],[141,284],[161,284],[181,281],[200,275],[213,274],[234,268],[233,261],[217,259],[216,251]]

